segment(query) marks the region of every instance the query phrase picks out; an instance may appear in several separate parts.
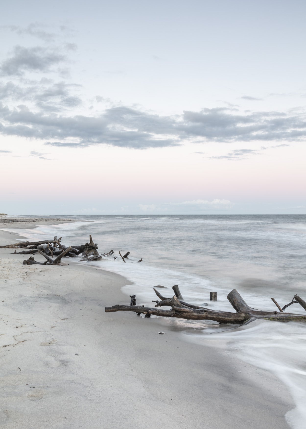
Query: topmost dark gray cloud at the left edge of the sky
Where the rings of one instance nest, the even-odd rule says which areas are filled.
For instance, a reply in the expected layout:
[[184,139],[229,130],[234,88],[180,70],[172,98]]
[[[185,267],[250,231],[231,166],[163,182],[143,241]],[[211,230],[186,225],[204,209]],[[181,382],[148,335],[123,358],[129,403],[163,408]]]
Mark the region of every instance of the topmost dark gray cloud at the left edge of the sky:
[[15,46],[12,56],[0,64],[2,76],[22,76],[25,71],[46,72],[51,66],[61,63],[66,57],[57,50],[34,46]]

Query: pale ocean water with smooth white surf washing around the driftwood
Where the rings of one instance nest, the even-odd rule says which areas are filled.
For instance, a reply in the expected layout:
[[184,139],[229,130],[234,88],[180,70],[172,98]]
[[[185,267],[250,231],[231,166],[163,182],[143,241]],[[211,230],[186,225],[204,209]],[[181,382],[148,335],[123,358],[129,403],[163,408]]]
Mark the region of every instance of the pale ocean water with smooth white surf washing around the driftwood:
[[[172,296],[178,284],[187,302],[234,311],[226,299],[237,289],[252,307],[275,311],[298,293],[306,299],[306,215],[171,215],[69,216],[75,223],[43,225],[20,230],[28,239],[62,236],[62,243],[78,245],[92,234],[101,253],[113,249],[117,259],[92,264],[117,272],[134,284],[137,303],[154,305],[153,287]],[[15,230],[16,231],[16,230]],[[130,251],[123,263],[122,254]],[[137,263],[140,258],[143,262]],[[69,263],[79,263],[77,258]],[[86,262],[84,262],[86,263]],[[218,302],[209,301],[209,292]],[[114,302],[113,304],[116,304]],[[294,304],[289,312],[305,313]],[[180,323],[173,322],[171,323]],[[240,360],[273,372],[287,387],[296,405],[286,414],[291,428],[306,428],[306,324],[259,320],[233,327],[210,321],[180,323],[183,338],[221,347]]]

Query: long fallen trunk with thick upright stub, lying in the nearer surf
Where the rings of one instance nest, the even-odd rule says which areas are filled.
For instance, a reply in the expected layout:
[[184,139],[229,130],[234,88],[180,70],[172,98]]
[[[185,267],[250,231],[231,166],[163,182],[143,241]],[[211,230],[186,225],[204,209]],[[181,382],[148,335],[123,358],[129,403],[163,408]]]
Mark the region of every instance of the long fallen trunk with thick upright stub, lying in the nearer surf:
[[232,307],[236,310],[236,313],[229,311],[214,311],[210,308],[192,308],[190,304],[188,306],[182,304],[176,296],[173,296],[168,302],[168,305],[171,306],[171,310],[159,310],[157,308],[141,307],[140,305],[113,305],[112,307],[105,307],[105,312],[111,313],[114,311],[134,311],[136,313],[153,314],[163,317],[178,317],[181,319],[191,320],[214,320],[219,323],[231,324],[242,324],[256,319],[275,320],[279,322],[306,320],[306,315],[302,314],[280,313],[278,311],[261,311],[252,308],[246,304],[236,289],[233,289],[228,294],[227,298]]

